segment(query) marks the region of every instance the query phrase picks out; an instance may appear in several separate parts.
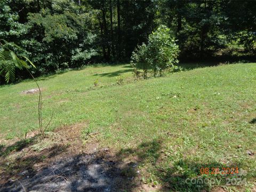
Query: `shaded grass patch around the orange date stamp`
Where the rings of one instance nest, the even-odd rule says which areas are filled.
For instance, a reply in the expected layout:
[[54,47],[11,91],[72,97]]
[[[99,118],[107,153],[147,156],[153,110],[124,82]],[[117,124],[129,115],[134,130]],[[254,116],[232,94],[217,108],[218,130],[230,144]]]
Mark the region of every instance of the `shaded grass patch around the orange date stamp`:
[[[232,167],[232,170],[234,167],[233,172],[235,172],[239,165],[225,165],[215,161],[199,163],[181,158],[171,167],[156,171],[155,174],[164,183],[162,189],[166,191],[210,191],[214,186],[228,185],[229,180],[238,177],[237,173],[222,174],[223,167]],[[217,168],[220,170],[219,173],[216,172]],[[201,169],[206,174],[201,174]]]

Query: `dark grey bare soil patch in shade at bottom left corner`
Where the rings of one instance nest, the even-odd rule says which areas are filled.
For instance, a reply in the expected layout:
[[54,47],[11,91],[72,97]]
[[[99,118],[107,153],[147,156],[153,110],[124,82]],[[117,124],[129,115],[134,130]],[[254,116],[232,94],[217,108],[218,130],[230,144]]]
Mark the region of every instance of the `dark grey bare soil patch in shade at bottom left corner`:
[[125,180],[119,166],[98,153],[79,154],[58,159],[33,174],[22,171],[19,180],[9,179],[0,191],[119,191]]

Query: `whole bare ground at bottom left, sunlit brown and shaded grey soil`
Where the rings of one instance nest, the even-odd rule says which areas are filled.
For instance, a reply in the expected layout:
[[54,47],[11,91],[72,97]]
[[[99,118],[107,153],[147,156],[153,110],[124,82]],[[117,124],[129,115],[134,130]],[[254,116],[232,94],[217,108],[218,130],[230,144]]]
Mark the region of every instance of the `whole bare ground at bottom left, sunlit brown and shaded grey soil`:
[[[137,174],[133,164],[118,159],[108,148],[99,149],[93,138],[83,145],[79,137],[82,127],[84,124],[62,127],[44,140],[33,132],[27,134],[29,142],[9,141],[0,149],[0,191],[121,191],[127,188],[126,191],[132,191],[137,188],[135,179],[122,171],[132,169],[131,174]],[[54,142],[51,143],[51,139]],[[33,150],[33,146],[41,147],[48,142],[50,145],[42,151]]]

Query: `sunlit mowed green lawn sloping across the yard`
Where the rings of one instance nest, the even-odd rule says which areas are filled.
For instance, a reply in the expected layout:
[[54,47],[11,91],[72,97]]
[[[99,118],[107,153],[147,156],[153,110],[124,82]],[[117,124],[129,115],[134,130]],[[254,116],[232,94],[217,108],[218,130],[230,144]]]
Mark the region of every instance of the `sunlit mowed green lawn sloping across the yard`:
[[[247,152],[256,153],[256,63],[135,82],[129,65],[87,67],[38,83],[45,124],[53,111],[50,130],[84,123],[85,145],[90,133],[98,133],[93,142],[96,138],[101,147],[139,157],[145,183],[195,191],[198,186],[185,179],[198,176],[201,167],[231,166],[255,181],[255,155]],[[33,81],[0,87],[2,138],[22,138],[38,129],[38,95],[21,93],[34,88]]]

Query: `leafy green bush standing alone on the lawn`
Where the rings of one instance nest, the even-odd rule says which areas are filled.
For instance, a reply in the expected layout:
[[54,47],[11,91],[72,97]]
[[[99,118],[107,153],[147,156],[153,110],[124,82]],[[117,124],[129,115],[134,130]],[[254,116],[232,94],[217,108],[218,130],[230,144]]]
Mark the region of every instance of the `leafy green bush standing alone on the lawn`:
[[179,46],[175,39],[170,35],[170,29],[160,26],[156,31],[149,35],[148,44],[138,46],[131,57],[131,64],[135,68],[143,70],[143,78],[147,78],[147,73],[151,69],[154,76],[163,71],[174,68],[178,63]]

